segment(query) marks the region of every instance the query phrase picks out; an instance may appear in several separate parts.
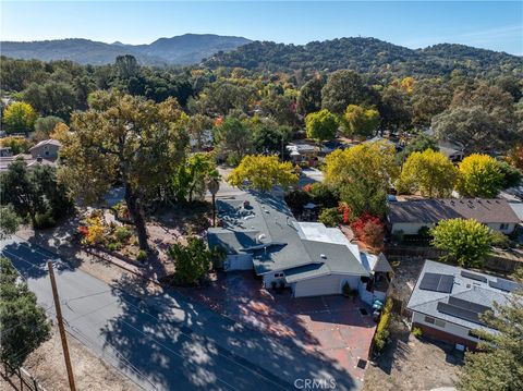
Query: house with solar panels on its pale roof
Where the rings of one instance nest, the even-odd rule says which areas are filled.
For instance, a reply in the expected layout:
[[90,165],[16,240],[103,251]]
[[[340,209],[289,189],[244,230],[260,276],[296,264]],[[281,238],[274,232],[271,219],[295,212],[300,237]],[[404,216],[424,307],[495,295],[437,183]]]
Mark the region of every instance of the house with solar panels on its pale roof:
[[481,318],[506,304],[518,283],[471,272],[451,265],[426,260],[406,308],[412,327],[424,334],[474,349],[479,341],[474,330],[495,333]]

